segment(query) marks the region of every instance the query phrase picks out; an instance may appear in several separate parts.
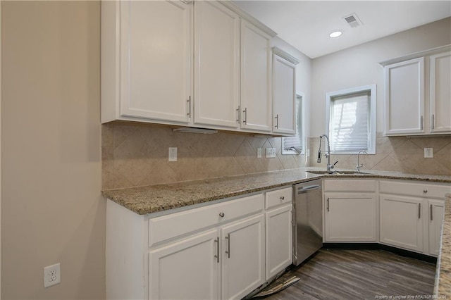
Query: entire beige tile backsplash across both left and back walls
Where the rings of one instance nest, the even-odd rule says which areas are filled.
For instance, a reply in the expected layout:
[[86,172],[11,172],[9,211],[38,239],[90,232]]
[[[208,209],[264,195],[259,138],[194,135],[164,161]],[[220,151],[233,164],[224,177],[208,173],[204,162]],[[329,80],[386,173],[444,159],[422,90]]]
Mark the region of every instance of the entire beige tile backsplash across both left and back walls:
[[[202,180],[302,168],[326,168],[316,163],[319,137],[307,139],[311,155],[282,155],[281,138],[240,132],[202,135],[173,132],[171,127],[109,123],[102,125],[102,188],[116,189],[161,183]],[[168,161],[168,147],[177,147],[178,161]],[[263,158],[257,158],[257,148]],[[265,158],[265,148],[276,148],[276,158]],[[424,158],[433,148],[433,158]],[[321,149],[325,149],[324,145]],[[451,136],[376,138],[376,154],[361,155],[362,170],[451,175]],[[335,168],[354,169],[357,155],[333,155]]]

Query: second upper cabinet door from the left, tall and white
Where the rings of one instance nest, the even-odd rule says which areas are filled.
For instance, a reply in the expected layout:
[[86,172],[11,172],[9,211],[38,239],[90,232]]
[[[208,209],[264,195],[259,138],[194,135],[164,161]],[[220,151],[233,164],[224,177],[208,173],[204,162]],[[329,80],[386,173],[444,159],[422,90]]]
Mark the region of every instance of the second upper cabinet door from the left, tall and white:
[[194,124],[237,128],[240,18],[215,1],[194,6]]

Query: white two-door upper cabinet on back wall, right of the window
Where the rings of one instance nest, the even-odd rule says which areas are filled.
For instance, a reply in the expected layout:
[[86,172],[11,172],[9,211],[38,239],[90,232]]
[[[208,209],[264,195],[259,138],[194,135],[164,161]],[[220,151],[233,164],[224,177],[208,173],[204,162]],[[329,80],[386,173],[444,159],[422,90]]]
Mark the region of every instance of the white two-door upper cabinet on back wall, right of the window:
[[451,133],[450,49],[443,46],[381,63],[385,135]]

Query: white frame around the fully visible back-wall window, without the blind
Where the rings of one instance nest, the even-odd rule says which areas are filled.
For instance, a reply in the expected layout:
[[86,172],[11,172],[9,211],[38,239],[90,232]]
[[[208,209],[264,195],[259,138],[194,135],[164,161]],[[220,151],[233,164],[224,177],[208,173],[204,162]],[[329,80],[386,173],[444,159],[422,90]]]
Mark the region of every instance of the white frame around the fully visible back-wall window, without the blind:
[[[330,139],[330,106],[333,104],[333,99],[337,97],[353,95],[369,92],[369,132],[368,132],[368,149],[365,149],[367,154],[376,154],[376,84],[363,85],[361,87],[352,87],[350,89],[340,89],[335,92],[326,93],[326,135]],[[332,154],[358,154],[359,151],[334,151],[330,149]]]

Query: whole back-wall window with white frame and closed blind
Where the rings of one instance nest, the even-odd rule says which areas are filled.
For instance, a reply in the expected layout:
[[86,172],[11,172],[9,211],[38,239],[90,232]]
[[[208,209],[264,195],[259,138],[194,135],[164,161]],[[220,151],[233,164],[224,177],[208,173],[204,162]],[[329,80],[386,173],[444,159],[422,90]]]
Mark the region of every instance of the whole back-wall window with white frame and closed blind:
[[376,154],[376,85],[327,93],[326,130],[334,154]]

